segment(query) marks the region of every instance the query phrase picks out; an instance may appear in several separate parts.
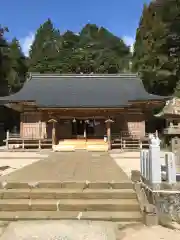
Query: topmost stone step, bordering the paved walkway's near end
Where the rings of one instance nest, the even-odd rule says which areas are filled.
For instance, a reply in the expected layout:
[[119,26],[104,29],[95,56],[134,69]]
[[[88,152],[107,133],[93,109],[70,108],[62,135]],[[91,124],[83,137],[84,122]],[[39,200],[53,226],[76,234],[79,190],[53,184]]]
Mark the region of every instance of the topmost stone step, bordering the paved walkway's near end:
[[69,189],[133,189],[132,182],[0,182],[0,189],[69,188]]

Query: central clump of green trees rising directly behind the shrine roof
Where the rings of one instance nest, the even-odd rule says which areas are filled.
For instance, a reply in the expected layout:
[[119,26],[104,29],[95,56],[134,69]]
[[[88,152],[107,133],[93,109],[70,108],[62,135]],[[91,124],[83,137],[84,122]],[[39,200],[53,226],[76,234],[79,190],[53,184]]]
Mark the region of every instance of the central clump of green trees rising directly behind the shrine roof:
[[129,70],[129,47],[105,28],[87,24],[79,34],[60,35],[47,20],[36,32],[30,51],[30,71],[57,73],[117,73]]

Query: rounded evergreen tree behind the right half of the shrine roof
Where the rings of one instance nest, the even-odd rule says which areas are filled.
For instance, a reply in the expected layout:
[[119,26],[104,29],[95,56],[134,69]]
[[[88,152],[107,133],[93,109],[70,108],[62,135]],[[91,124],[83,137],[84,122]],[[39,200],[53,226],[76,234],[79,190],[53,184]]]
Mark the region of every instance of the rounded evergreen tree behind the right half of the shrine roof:
[[87,24],[80,32],[80,48],[88,72],[118,73],[129,68],[129,47],[103,27]]

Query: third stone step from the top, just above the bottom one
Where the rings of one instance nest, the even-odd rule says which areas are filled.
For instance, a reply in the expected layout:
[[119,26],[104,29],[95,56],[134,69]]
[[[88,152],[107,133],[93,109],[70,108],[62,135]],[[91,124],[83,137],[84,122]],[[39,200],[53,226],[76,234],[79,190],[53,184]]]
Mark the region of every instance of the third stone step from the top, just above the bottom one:
[[139,211],[136,199],[1,199],[0,211]]

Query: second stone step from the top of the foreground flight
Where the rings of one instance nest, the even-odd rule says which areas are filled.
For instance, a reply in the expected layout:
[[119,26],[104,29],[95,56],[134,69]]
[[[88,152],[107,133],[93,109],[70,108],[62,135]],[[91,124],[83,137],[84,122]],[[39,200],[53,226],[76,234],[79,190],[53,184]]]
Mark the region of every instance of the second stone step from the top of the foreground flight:
[[0,199],[135,199],[133,189],[0,189]]

